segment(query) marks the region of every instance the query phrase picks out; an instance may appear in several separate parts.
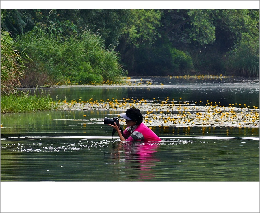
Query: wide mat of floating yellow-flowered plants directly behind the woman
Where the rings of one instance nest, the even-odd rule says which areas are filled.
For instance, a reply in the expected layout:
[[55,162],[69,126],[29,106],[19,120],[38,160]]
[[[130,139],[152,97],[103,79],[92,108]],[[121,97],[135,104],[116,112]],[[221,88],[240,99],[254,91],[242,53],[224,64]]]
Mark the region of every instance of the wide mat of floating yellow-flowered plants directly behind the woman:
[[[125,111],[128,108],[138,108],[143,112],[143,122],[147,126],[243,126],[259,127],[259,109],[246,104],[229,104],[222,106],[220,102],[209,102],[200,106],[198,102],[175,101],[169,97],[164,100],[153,98],[152,101],[130,98],[118,100],[73,100],[58,101],[58,110],[114,110]],[[119,115],[118,115],[119,116]],[[84,119],[85,116],[82,118]],[[120,120],[121,124],[124,119]]]

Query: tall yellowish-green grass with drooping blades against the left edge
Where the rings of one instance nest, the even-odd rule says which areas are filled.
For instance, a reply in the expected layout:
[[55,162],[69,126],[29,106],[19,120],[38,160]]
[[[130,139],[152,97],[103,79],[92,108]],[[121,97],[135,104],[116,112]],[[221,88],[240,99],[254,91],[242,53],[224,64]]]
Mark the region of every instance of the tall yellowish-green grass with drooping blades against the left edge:
[[26,54],[19,53],[9,32],[1,29],[1,95],[16,93],[25,71]]

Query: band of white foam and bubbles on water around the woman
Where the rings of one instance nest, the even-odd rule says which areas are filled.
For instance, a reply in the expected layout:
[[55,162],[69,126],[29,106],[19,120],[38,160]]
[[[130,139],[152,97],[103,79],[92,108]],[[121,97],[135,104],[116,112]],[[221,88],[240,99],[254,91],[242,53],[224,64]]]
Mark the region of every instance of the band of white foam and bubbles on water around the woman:
[[[59,152],[59,151],[81,151],[83,149],[93,149],[108,147],[113,143],[121,143],[119,137],[111,136],[35,136],[35,137],[7,137],[7,139],[18,139],[23,140],[41,140],[42,143],[1,143],[1,149],[9,150],[11,152]],[[2,139],[2,138],[1,138]],[[4,138],[3,138],[4,139]],[[60,139],[58,142],[50,142],[46,139]],[[71,143],[73,140],[73,143]],[[159,142],[133,142],[140,143],[140,145],[157,144],[157,145],[183,145],[192,143],[216,143],[218,140],[226,141],[239,141],[246,143],[246,141],[255,140],[259,141],[259,137],[220,137],[220,136],[168,136],[161,137],[162,141]],[[94,141],[93,141],[94,140]],[[125,143],[126,144],[126,143]]]

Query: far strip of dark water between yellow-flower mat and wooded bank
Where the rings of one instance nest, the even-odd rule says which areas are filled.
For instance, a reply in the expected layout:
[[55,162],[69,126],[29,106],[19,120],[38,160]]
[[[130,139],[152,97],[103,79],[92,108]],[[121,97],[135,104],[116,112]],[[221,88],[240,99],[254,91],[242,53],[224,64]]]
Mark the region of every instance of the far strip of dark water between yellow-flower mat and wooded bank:
[[88,101],[112,100],[133,98],[133,100],[144,99],[164,100],[169,97],[171,101],[198,102],[205,106],[209,102],[217,102],[223,106],[229,104],[246,104],[246,106],[259,107],[259,79],[255,78],[170,78],[170,77],[149,77],[147,79],[132,78],[131,85],[118,86],[60,86],[46,89],[50,91],[52,98],[63,99],[66,96],[70,100]]

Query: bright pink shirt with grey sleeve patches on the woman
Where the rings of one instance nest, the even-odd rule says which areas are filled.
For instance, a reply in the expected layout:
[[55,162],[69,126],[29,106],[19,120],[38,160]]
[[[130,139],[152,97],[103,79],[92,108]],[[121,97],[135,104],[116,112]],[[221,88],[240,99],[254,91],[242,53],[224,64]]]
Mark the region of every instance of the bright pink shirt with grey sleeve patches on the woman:
[[[128,138],[127,138],[128,137]],[[161,141],[161,139],[144,123],[128,126],[124,131],[126,141]]]

